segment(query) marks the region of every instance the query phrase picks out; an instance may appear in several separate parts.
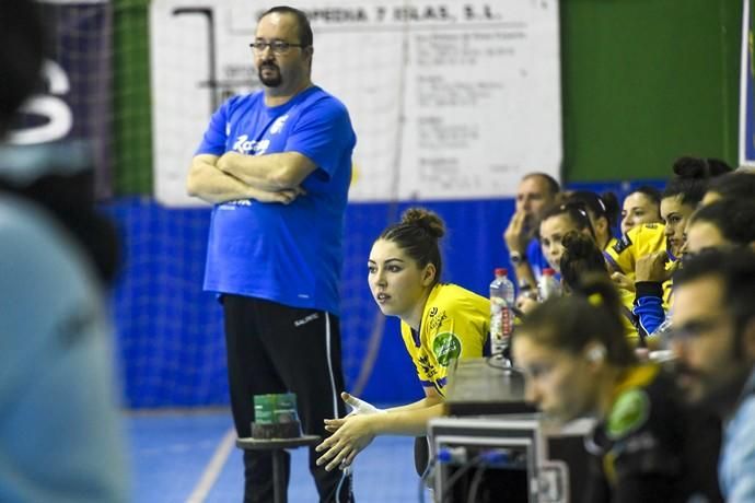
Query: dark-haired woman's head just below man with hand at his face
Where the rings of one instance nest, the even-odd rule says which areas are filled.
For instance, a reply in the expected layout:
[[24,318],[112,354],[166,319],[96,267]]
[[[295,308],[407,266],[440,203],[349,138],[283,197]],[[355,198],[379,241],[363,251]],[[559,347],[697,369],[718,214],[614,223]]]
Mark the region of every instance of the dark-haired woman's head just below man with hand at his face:
[[556,203],[546,208],[541,214],[537,231],[541,248],[548,265],[558,272],[561,270],[560,260],[564,254],[561,241],[570,231],[583,233],[595,241],[590,215],[583,203],[579,201]]

